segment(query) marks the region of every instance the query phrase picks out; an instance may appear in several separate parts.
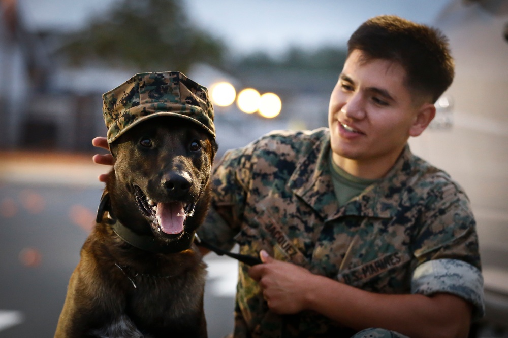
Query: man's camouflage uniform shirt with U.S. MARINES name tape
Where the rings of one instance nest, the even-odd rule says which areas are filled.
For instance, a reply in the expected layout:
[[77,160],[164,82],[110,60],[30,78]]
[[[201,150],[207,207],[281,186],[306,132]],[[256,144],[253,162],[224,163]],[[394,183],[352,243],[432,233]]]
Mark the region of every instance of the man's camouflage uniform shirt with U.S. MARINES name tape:
[[[338,207],[328,156],[328,129],[277,132],[228,152],[215,166],[213,200],[199,236],[240,253],[265,249],[314,274],[379,293],[452,292],[483,312],[478,238],[469,202],[450,177],[409,147],[385,178]],[[453,275],[419,284],[413,272],[429,261]],[[422,276],[432,279],[429,269]],[[432,270],[432,269],[430,269]],[[235,337],[350,337],[311,311],[269,311],[258,284],[240,264]],[[461,285],[456,285],[461,283]],[[459,292],[454,290],[460,289]],[[340,306],[340,305],[339,305]]]

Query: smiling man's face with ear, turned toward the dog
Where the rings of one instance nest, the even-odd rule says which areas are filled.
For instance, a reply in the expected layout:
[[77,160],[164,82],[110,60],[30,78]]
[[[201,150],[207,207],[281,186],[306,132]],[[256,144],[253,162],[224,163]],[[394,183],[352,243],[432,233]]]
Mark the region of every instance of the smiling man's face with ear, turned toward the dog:
[[425,129],[415,127],[423,105],[411,100],[400,64],[383,59],[365,61],[361,55],[354,50],[347,58],[330,97],[333,159],[339,165],[348,159],[359,165],[391,167],[408,137]]

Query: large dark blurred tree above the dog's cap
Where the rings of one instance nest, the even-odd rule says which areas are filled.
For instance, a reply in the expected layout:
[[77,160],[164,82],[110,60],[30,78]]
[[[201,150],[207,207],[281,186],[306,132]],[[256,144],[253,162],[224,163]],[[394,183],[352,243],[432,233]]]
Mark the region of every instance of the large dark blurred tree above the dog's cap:
[[220,66],[225,54],[223,42],[189,23],[179,0],[119,0],[63,41],[60,52],[73,65],[99,61],[139,71]]

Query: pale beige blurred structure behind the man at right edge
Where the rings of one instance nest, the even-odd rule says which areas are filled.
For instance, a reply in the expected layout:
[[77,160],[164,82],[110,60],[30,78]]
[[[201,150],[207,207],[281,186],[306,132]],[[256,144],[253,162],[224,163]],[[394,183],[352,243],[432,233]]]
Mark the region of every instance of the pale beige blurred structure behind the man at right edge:
[[[508,1],[454,0],[434,24],[450,39],[456,76],[418,155],[466,190],[478,222],[487,318],[508,318]],[[439,104],[440,103],[440,104]],[[504,319],[503,319],[504,318]]]

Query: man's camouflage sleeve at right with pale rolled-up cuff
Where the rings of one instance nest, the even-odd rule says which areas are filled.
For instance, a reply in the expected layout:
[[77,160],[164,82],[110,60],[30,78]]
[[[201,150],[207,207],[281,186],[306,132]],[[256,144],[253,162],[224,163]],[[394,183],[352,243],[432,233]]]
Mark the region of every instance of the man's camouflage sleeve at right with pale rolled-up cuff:
[[435,175],[427,192],[423,226],[414,238],[416,260],[411,292],[449,293],[474,306],[473,319],[484,315],[483,276],[476,222],[462,188]]

